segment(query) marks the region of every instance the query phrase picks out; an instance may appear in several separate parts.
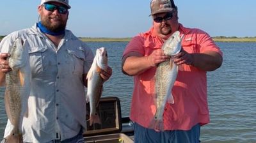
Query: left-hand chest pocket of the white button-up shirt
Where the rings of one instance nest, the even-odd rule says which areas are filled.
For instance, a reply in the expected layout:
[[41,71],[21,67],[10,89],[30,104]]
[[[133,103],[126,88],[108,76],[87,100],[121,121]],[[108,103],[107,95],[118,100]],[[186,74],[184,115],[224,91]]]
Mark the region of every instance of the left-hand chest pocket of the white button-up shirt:
[[44,72],[44,53],[47,47],[31,47],[29,49],[29,63],[32,75],[38,75]]

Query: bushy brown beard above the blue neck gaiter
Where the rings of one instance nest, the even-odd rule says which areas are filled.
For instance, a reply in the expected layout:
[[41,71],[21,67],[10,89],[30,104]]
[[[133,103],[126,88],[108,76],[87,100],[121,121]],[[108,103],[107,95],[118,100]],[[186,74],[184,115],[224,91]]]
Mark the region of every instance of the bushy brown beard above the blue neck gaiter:
[[42,25],[45,26],[49,31],[53,33],[58,33],[65,30],[67,26],[67,20],[59,19],[58,24],[52,24],[51,20],[48,17],[42,17]]

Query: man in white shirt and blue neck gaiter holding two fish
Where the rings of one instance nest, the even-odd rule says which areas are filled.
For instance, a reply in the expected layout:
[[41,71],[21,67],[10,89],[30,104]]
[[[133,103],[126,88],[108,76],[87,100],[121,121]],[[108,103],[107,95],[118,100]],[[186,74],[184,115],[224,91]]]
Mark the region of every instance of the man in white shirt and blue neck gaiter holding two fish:
[[[15,31],[0,43],[0,82],[10,72],[6,57],[17,38],[28,41],[31,66],[31,93],[28,117],[23,118],[24,142],[84,142],[86,74],[93,61],[92,50],[65,29],[68,0],[42,0],[38,6],[41,21]],[[104,81],[112,70],[102,71]],[[12,131],[8,121],[4,138]],[[4,141],[3,141],[4,142]]]

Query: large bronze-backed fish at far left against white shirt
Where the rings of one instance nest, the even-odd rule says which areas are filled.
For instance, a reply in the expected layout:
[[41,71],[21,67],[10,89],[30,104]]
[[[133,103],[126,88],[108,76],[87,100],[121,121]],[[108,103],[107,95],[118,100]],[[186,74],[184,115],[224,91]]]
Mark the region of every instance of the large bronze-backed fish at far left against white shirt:
[[14,41],[10,49],[9,62],[11,72],[6,73],[4,103],[6,114],[13,130],[6,142],[22,141],[22,119],[28,109],[28,96],[30,93],[31,70],[29,66],[29,52],[26,40],[23,42],[20,38]]

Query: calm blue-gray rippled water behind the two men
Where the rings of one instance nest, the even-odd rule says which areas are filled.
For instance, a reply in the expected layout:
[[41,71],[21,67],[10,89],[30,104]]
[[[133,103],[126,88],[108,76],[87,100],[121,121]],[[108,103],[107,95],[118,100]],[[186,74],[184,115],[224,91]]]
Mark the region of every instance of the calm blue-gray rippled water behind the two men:
[[[88,43],[108,49],[113,76],[104,85],[103,96],[117,96],[122,116],[129,116],[132,77],[121,72],[121,56],[127,43]],[[256,43],[217,43],[223,50],[223,65],[209,72],[208,99],[211,123],[202,126],[202,142],[256,142]],[[6,124],[3,91],[0,89],[0,139]]]

